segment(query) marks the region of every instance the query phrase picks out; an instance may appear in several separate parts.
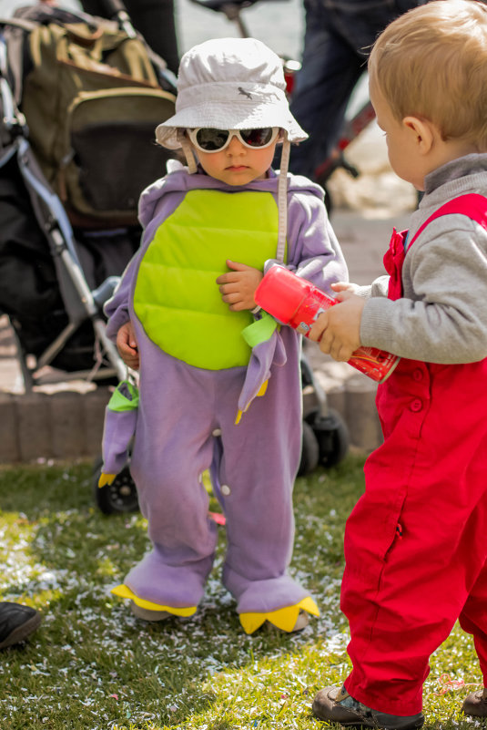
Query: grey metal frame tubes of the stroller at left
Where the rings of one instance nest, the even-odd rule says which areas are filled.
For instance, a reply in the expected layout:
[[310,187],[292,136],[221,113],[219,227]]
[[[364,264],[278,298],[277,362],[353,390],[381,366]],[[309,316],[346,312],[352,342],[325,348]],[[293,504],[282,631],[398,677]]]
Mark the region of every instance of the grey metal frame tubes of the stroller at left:
[[[77,15],[83,19],[84,14]],[[136,32],[130,24],[127,13],[118,9],[115,15],[119,26],[125,30],[127,36],[135,37]],[[114,292],[120,277],[109,275],[96,289],[91,289],[86,281],[85,272],[76,252],[75,233],[61,200],[52,190],[36,161],[28,140],[25,116],[16,104],[14,92],[8,81],[8,53],[3,33],[5,25],[29,29],[28,24],[20,18],[0,20],[0,111],[3,118],[1,141],[4,148],[3,154],[0,151],[0,169],[15,159],[30,197],[36,222],[46,237],[68,319],[66,326],[56,335],[54,341],[42,354],[36,356],[35,365],[28,364],[28,353],[25,352],[13,325],[17,358],[25,391],[31,391],[34,386],[68,380],[107,381],[114,378],[120,380],[127,376],[127,366],[118,355],[115,344],[107,337],[106,321],[102,314],[103,305]],[[172,74],[168,70],[167,83],[169,86],[173,83]],[[56,372],[56,369],[51,369],[51,372],[46,373],[46,367],[53,363],[56,355],[87,321],[92,324],[97,350],[93,367],[89,370],[75,369],[68,372],[64,370]]]

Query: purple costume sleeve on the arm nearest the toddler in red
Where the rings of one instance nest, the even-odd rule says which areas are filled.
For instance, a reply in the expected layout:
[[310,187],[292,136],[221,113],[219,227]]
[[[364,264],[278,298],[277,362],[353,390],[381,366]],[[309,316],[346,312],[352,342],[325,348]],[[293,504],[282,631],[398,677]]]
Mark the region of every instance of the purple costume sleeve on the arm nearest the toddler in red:
[[[266,262],[265,271],[276,263]],[[287,266],[331,295],[330,283],[349,281],[347,264],[325,205],[315,195],[302,192],[289,196]]]

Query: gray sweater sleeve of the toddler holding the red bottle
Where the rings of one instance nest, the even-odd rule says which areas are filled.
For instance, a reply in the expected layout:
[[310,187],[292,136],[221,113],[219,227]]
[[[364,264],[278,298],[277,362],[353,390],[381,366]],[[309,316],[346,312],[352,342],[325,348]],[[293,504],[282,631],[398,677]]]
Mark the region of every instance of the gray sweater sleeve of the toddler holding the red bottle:
[[362,344],[423,362],[460,364],[487,356],[487,231],[466,216],[443,216],[407,253],[404,295],[371,296]]

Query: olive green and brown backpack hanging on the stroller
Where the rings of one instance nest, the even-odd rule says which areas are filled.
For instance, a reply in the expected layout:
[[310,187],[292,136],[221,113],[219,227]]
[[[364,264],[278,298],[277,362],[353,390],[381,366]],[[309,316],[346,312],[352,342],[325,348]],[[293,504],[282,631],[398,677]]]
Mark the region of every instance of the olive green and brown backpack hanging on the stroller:
[[147,46],[101,18],[34,26],[27,43],[20,107],[72,223],[135,224],[140,192],[166,173],[155,129],[175,101],[159,86]]

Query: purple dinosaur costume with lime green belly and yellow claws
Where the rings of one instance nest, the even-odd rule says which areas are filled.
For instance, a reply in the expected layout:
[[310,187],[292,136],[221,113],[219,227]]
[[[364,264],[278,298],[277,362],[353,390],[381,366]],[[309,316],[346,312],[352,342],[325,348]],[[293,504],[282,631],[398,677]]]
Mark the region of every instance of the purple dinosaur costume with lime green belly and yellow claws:
[[[232,48],[236,40],[231,39]],[[280,64],[279,59],[276,64]],[[280,66],[279,74],[282,74]],[[247,99],[241,103],[249,105]],[[327,218],[323,191],[305,178],[289,175],[287,182],[286,265],[330,292],[330,283],[346,281],[348,273]],[[275,252],[274,232],[278,230],[280,210],[278,189],[279,175],[273,170],[269,170],[266,180],[231,186],[208,176],[200,168],[190,174],[187,168],[174,164],[165,178],[157,180],[142,194],[141,248],[106,307],[108,334],[115,338],[120,326],[130,320],[140,355],[131,472],[137,484],[140,509],[147,517],[152,550],[127,574],[125,595],[151,609],[179,614],[181,611],[171,609],[188,609],[186,615],[196,611],[217,542],[216,524],[208,517],[208,494],[201,482],[202,473],[210,468],[227,522],[223,583],[235,597],[240,620],[248,632],[254,631],[266,618],[279,625],[277,620],[269,618],[269,612],[297,606],[317,612],[308,591],[287,573],[294,537],[292,489],[301,448],[299,335],[286,326],[274,328],[250,344],[245,365],[207,368],[198,365],[198,358],[192,360],[184,355],[185,343],[198,336],[195,323],[199,322],[200,313],[188,313],[179,335],[183,355],[175,356],[171,349],[174,337],[173,340],[169,337],[170,346],[166,347],[159,340],[159,334],[164,337],[165,332],[160,333],[160,327],[157,331],[152,324],[151,318],[157,314],[152,313],[155,307],[150,296],[154,293],[160,310],[164,310],[169,290],[178,286],[174,282],[179,278],[184,282],[185,277],[194,282],[195,272],[205,268],[199,261],[201,250],[206,250],[207,244],[208,248],[216,246],[218,253],[215,242],[221,242],[221,271],[215,273],[214,279],[225,271],[224,262],[228,258],[256,266],[253,260],[245,259],[246,245],[255,252],[262,241],[262,251],[268,251],[264,246],[270,241],[269,250]],[[191,203],[199,200],[201,193],[210,194],[208,200],[216,200],[217,193],[220,197],[218,211],[208,211],[212,217],[209,222],[205,221],[207,233],[200,239],[197,234],[201,225],[192,223],[186,211],[191,213]],[[224,218],[227,208],[235,212],[239,206],[245,213],[240,218],[232,213],[227,228],[222,222],[223,228],[218,230],[218,218]],[[203,206],[202,210],[209,207]],[[180,215],[178,218],[181,210],[185,211],[182,221]],[[269,211],[271,227],[275,218],[272,231],[266,228],[268,223],[262,222]],[[230,231],[234,221],[237,233]],[[248,226],[247,231],[240,230],[243,225]],[[166,231],[162,246],[161,231]],[[238,254],[243,253],[243,257],[232,257],[231,250],[228,252],[227,232],[231,245],[235,244],[235,237],[243,240],[238,243]],[[171,238],[174,236],[179,237],[177,244]],[[163,253],[168,247],[175,256],[180,250],[194,256],[192,269],[191,262],[187,261],[186,268],[178,269],[176,275],[170,270],[164,280],[167,288],[158,276],[163,269],[157,268],[158,261],[154,262],[157,245]],[[265,256],[257,268],[266,271],[280,262],[274,255]],[[147,272],[144,267],[149,259],[153,268],[149,267],[148,274],[141,273]],[[209,268],[213,271],[213,267]],[[146,284],[148,294],[143,306],[139,306],[138,288],[144,276],[153,278]],[[183,287],[184,283],[181,291]],[[216,283],[215,292],[218,294]],[[201,305],[203,309],[204,305]],[[148,314],[143,316],[140,313],[144,307]],[[180,316],[179,311],[175,310],[174,314]],[[235,315],[228,313],[225,306],[225,319],[228,314],[230,319]],[[257,324],[262,321],[260,314],[256,314],[256,319]],[[170,329],[171,320],[164,321]],[[225,344],[225,338],[222,342]],[[237,424],[238,412],[243,415]],[[109,429],[106,430],[109,443]],[[243,617],[247,617],[247,622]]]

